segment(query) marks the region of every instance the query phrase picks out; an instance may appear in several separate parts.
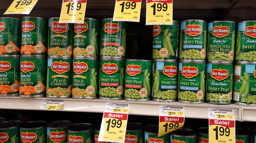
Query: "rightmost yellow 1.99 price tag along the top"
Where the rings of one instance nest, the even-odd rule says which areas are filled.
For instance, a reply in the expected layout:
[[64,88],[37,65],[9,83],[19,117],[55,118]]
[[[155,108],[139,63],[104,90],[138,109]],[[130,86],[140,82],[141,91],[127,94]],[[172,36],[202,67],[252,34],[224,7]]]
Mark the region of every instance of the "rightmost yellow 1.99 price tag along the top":
[[147,0],[146,25],[172,24],[172,0]]

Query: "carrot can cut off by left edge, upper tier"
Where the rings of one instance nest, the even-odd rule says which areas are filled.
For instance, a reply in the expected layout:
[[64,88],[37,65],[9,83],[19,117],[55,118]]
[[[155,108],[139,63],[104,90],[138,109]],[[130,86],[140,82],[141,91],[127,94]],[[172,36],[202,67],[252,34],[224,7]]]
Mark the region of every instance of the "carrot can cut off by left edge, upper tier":
[[0,55],[20,55],[21,19],[11,17],[0,18]]

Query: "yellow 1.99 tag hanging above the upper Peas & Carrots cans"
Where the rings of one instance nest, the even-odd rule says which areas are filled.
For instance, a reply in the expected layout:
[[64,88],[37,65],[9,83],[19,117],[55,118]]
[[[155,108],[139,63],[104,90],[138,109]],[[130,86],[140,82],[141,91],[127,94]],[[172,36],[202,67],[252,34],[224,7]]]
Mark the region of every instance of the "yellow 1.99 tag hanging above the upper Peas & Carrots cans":
[[59,23],[84,23],[87,0],[63,0]]

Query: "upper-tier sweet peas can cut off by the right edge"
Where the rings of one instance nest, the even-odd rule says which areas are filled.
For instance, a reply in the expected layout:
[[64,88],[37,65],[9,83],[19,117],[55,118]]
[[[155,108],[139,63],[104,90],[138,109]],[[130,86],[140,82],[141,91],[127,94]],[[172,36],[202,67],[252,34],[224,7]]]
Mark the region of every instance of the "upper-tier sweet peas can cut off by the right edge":
[[238,24],[236,36],[236,61],[256,61],[256,21]]

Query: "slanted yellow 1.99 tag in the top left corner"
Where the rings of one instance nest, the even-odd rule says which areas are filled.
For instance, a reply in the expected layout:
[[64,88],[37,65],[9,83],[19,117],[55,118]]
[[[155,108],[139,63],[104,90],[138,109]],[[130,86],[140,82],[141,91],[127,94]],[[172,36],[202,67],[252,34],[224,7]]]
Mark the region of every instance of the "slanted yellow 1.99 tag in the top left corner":
[[29,14],[37,0],[14,0],[4,14]]

